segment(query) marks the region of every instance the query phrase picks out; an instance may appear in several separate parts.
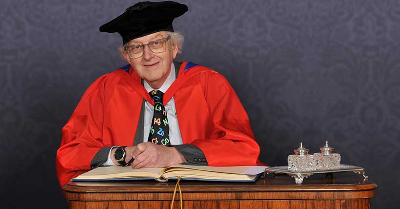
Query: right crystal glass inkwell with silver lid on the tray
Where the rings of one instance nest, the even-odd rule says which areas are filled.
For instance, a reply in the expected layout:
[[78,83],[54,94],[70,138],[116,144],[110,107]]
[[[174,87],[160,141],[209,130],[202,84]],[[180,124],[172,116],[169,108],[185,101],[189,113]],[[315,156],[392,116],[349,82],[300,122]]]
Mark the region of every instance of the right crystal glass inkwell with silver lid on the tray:
[[319,148],[321,153],[313,154],[316,169],[335,169],[340,167],[340,154],[333,153],[333,149],[326,141],[325,146]]

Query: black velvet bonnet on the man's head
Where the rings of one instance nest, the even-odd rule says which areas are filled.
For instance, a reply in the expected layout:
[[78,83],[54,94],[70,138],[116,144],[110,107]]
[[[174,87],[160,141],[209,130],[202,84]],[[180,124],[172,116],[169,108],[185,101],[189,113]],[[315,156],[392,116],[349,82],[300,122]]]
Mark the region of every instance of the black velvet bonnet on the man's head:
[[100,26],[100,32],[118,32],[123,44],[158,31],[174,32],[172,21],[188,11],[185,4],[174,1],[143,1],[126,9],[122,15]]

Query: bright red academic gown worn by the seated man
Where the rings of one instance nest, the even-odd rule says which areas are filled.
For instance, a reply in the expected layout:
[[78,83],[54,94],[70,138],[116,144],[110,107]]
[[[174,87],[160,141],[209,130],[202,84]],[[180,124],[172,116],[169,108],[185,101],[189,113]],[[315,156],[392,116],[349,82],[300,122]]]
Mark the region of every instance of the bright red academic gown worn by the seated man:
[[[164,101],[175,96],[183,144],[198,146],[209,166],[264,165],[231,85],[214,70],[200,65],[184,70],[186,64],[182,62],[163,96]],[[100,148],[133,145],[143,99],[154,105],[132,67],[129,73],[118,69],[103,75],[89,86],[62,129],[56,156],[60,186],[89,170]]]

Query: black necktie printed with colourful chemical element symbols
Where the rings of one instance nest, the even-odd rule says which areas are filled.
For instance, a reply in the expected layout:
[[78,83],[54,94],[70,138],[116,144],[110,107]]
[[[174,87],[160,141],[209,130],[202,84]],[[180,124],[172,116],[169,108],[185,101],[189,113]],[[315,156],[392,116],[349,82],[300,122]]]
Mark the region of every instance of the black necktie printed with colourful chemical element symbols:
[[169,140],[167,112],[162,104],[162,96],[164,93],[160,90],[152,90],[149,94],[154,100],[154,113],[148,142],[157,145],[171,146]]

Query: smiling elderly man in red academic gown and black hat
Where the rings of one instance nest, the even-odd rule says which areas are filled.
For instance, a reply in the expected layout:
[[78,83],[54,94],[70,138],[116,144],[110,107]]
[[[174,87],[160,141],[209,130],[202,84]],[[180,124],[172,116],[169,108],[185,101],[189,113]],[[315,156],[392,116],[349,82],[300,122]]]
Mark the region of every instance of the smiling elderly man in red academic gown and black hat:
[[175,62],[184,4],[139,2],[101,32],[118,32],[128,65],[89,86],[64,126],[61,186],[99,166],[257,165],[260,148],[235,91],[218,72]]

